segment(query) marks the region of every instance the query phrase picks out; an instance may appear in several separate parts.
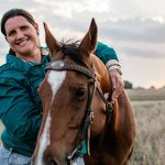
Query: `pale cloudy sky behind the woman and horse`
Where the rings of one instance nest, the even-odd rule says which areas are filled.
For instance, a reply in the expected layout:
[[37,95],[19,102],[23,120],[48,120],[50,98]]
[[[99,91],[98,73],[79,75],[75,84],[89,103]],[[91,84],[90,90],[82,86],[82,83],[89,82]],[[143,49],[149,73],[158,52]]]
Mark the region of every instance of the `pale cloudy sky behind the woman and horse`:
[[[12,8],[31,12],[61,40],[84,37],[95,18],[98,40],[116,50],[122,78],[133,87],[165,86],[165,1],[164,0],[0,0],[0,18]],[[9,45],[0,34],[0,64]]]

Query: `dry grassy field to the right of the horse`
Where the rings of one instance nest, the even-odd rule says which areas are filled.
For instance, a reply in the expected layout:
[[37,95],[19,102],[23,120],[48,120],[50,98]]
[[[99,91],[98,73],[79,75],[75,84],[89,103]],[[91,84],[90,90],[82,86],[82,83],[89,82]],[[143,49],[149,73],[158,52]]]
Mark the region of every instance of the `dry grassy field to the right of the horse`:
[[[130,165],[165,164],[165,88],[128,90],[136,124]],[[129,131],[129,130],[128,130]]]

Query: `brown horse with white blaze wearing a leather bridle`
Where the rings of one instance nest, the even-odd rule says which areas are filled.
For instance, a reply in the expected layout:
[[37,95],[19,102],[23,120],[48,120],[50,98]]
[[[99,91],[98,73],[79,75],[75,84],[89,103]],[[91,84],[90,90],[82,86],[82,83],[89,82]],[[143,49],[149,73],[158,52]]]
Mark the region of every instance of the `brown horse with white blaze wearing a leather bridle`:
[[135,139],[132,106],[124,89],[111,103],[109,72],[94,54],[95,19],[79,43],[57,42],[44,29],[52,62],[38,88],[43,113],[33,164],[68,165],[85,144],[86,165],[127,165]]

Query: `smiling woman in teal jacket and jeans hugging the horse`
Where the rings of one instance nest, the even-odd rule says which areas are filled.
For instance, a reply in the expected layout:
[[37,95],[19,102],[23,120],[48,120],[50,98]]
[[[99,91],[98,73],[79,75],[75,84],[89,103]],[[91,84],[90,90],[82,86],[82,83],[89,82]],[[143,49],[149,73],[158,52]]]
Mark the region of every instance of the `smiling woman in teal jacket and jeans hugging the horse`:
[[[44,68],[51,56],[48,50],[40,45],[37,23],[22,9],[11,9],[3,14],[1,32],[10,45],[10,53],[7,64],[0,67],[0,119],[4,124],[0,164],[28,165],[42,119],[37,87],[44,79]],[[117,55],[102,43],[98,43],[96,55],[110,70],[114,100],[123,88]],[[74,162],[84,164],[81,158]]]

